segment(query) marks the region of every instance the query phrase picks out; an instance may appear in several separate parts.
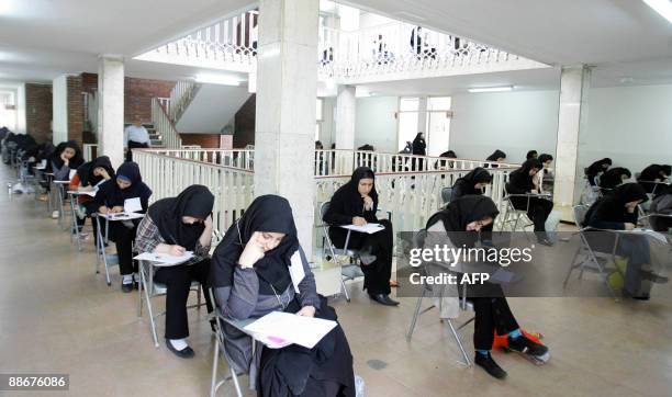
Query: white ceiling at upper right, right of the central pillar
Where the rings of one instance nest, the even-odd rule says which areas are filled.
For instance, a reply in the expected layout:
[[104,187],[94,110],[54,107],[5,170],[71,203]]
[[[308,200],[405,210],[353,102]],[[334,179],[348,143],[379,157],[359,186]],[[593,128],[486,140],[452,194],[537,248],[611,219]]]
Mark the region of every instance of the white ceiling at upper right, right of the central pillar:
[[345,0],[552,66],[595,66],[598,86],[672,83],[672,24],[640,0]]

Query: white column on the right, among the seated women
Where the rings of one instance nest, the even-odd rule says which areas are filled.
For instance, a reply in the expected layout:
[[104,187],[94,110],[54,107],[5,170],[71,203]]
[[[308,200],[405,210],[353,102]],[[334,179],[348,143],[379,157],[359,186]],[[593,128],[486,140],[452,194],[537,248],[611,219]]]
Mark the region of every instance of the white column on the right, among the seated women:
[[581,195],[583,170],[579,169],[578,160],[581,132],[587,123],[590,81],[591,70],[586,66],[562,68],[553,196],[563,220],[572,219],[571,206]]

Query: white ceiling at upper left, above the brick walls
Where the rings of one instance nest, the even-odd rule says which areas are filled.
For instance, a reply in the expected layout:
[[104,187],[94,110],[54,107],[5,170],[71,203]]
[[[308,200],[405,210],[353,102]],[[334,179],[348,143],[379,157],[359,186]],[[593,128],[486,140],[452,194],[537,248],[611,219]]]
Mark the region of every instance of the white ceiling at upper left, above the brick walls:
[[[96,72],[99,54],[131,59],[247,9],[249,3],[249,0],[1,0],[0,79],[51,81],[63,73]],[[128,61],[126,73],[135,76],[146,68]],[[164,68],[166,78],[179,72],[180,68],[175,71]]]

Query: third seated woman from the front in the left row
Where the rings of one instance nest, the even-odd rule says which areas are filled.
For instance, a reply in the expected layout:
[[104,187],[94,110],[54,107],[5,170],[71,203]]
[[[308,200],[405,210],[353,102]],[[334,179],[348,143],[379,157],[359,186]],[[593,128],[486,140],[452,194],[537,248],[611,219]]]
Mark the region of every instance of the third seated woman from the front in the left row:
[[[147,211],[152,190],[143,182],[139,167],[133,161],[126,161],[116,170],[115,180],[103,182],[93,198],[101,214],[121,213],[124,211],[124,202],[131,198],[139,198],[143,212]],[[139,220],[113,220],[110,222],[110,239],[116,246],[119,256],[119,270],[122,274],[122,291],[130,293],[133,286],[137,286],[137,263],[133,260],[133,240]]]

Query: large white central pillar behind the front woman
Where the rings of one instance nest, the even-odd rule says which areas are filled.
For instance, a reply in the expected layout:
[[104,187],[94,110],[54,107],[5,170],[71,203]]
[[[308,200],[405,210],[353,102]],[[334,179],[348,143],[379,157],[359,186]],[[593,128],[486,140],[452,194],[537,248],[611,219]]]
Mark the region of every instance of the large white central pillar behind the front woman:
[[257,57],[255,195],[292,205],[312,258],[318,0],[261,0]]

